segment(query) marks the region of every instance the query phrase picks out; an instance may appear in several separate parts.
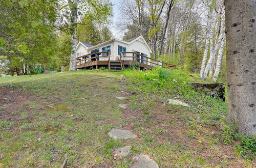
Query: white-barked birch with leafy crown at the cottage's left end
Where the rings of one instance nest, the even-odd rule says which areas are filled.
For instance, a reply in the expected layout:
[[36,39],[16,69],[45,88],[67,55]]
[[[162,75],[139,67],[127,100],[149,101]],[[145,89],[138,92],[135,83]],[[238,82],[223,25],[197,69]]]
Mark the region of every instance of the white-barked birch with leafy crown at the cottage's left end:
[[70,71],[75,70],[75,50],[77,45],[77,24],[79,18],[87,17],[91,20],[107,21],[108,16],[112,13],[112,4],[109,0],[60,0],[60,16],[66,24],[66,29],[72,35],[72,54],[70,55]]

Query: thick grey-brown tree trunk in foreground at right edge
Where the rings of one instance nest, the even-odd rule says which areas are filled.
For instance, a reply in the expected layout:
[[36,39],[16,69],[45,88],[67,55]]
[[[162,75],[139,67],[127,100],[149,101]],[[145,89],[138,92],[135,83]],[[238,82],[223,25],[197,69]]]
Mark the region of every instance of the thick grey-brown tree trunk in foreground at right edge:
[[256,2],[225,0],[228,115],[256,137]]

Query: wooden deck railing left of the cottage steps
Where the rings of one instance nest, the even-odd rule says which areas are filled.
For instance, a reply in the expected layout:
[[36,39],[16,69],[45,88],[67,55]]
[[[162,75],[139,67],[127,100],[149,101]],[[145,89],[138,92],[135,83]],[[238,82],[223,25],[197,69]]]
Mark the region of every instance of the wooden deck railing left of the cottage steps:
[[[109,53],[109,56],[95,56],[95,57],[91,57],[91,58],[86,58],[88,56],[91,56],[91,55],[100,55],[102,53]],[[83,58],[86,58],[86,59],[83,59]],[[110,52],[93,52],[93,53],[89,53],[89,54],[86,54],[86,55],[82,55],[80,57],[77,57],[76,58],[76,65],[81,65],[81,64],[85,64],[85,63],[90,63],[90,62],[93,62],[93,61],[98,61],[100,58],[107,58],[108,60],[104,60],[104,61],[110,61]]]

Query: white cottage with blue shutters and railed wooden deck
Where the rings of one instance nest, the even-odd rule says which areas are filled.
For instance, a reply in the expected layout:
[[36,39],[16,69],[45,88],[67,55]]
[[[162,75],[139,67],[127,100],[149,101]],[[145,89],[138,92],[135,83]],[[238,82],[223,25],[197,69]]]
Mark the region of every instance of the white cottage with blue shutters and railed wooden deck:
[[80,41],[76,47],[76,69],[106,67],[110,70],[122,70],[135,62],[138,62],[141,68],[147,69],[154,66],[175,67],[151,59],[151,53],[152,50],[143,36],[126,41],[114,38],[94,46]]

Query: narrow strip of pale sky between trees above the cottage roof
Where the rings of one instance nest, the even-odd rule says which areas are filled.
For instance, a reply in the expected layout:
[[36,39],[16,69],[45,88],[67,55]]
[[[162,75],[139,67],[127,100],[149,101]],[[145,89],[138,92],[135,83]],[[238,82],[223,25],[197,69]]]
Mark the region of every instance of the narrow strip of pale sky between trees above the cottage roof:
[[118,21],[118,4],[120,4],[121,0],[111,0],[112,4],[114,4],[113,6],[113,12],[114,12],[114,18],[113,18],[113,23],[111,25],[111,31],[113,32],[113,36],[117,39],[122,39],[123,37],[123,33],[118,31],[116,29],[116,23]]

